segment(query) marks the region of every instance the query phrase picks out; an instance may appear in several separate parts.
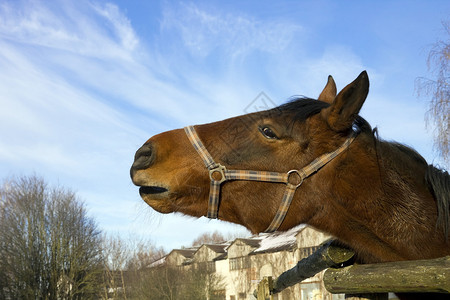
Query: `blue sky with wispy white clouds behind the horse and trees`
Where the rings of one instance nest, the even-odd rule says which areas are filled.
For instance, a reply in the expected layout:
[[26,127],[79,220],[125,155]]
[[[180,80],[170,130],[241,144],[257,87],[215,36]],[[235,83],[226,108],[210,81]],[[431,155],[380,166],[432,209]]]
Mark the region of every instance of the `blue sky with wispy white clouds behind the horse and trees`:
[[[338,89],[367,70],[361,115],[430,163],[430,46],[449,1],[0,0],[0,178],[38,174],[77,191],[100,228],[166,249],[237,225],[159,215],[129,179],[152,135]],[[245,231],[244,231],[245,232]]]

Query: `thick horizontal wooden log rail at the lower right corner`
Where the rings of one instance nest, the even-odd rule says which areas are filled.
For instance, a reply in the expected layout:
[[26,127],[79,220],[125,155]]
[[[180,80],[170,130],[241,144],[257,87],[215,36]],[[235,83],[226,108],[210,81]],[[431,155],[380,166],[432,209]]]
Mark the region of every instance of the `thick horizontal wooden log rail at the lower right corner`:
[[323,280],[337,294],[450,293],[450,256],[330,268]]

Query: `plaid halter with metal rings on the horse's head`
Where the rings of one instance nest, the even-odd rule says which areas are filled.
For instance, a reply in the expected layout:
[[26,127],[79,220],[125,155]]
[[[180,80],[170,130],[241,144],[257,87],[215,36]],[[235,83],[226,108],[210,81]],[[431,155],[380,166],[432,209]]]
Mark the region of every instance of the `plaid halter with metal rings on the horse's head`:
[[[250,170],[228,170],[224,165],[216,163],[206,150],[202,141],[200,140],[194,126],[187,126],[184,128],[186,135],[189,138],[192,146],[202,158],[206,168],[209,171],[209,178],[211,179],[209,191],[209,203],[207,217],[217,219],[219,210],[220,185],[229,180],[250,180],[250,181],[265,181],[286,184],[286,190],[281,200],[280,207],[270,223],[269,227],[264,232],[276,231],[283,222],[288,212],[289,206],[294,197],[297,188],[303,183],[303,180],[310,175],[317,172],[320,168],[338,156],[353,142],[358,135],[358,131],[354,131],[351,136],[335,151],[323,154],[312,161],[306,167],[300,170],[290,170],[287,173],[267,172],[267,171],[250,171]],[[219,176],[220,175],[220,176]]]

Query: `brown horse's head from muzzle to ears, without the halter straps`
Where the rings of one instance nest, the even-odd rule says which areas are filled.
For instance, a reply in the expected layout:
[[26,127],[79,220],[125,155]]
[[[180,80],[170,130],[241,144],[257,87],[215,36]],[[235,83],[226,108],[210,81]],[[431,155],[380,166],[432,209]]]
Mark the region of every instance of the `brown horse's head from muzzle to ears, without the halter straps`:
[[[363,72],[336,95],[330,76],[319,100],[297,99],[270,110],[197,125],[195,131],[214,160],[228,169],[297,170],[348,138],[368,88]],[[313,216],[318,199],[330,188],[326,177],[330,172],[320,173],[305,180],[296,191],[295,204],[280,229],[289,229]],[[210,177],[183,129],[150,138],[136,152],[131,177],[140,187],[143,200],[156,211],[206,215]],[[283,184],[224,182],[218,218],[261,232],[276,214],[283,193]]]

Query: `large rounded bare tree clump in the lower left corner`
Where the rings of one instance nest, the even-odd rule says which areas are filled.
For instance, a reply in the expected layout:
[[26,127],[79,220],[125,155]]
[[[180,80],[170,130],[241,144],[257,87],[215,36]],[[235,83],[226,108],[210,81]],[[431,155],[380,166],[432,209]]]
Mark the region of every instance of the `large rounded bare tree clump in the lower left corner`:
[[74,192],[37,176],[6,180],[0,232],[0,298],[97,297],[99,231]]

